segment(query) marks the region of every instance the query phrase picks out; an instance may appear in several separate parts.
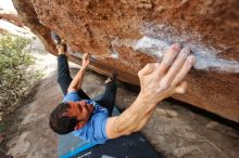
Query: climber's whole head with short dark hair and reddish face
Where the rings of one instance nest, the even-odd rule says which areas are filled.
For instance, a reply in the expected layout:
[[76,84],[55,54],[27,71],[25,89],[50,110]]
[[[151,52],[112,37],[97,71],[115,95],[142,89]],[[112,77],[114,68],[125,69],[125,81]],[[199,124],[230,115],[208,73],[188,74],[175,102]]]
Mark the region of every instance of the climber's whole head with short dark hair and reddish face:
[[50,127],[59,134],[67,134],[83,128],[89,120],[93,106],[86,101],[59,104],[50,115]]

